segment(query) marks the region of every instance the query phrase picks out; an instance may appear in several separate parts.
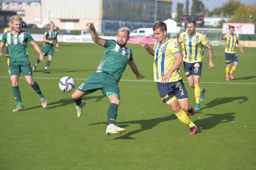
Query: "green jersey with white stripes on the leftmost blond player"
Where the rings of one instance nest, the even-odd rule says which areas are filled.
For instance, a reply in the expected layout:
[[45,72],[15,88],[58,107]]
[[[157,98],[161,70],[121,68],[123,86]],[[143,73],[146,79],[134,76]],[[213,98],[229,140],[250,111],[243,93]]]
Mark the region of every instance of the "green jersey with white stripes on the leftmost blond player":
[[10,54],[10,61],[25,61],[28,59],[28,42],[32,42],[34,39],[30,33],[26,31],[20,31],[19,34],[13,35],[12,31],[8,31],[2,36],[2,43],[8,43],[8,50]]

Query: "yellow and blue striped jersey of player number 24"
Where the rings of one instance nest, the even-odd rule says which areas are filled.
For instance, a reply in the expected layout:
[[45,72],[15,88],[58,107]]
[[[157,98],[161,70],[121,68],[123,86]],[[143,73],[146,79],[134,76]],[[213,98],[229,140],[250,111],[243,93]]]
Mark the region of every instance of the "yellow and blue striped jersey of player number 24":
[[187,63],[196,63],[202,61],[201,45],[209,44],[204,35],[198,32],[196,32],[196,34],[193,36],[188,35],[188,32],[181,33],[178,43],[183,43],[183,61]]

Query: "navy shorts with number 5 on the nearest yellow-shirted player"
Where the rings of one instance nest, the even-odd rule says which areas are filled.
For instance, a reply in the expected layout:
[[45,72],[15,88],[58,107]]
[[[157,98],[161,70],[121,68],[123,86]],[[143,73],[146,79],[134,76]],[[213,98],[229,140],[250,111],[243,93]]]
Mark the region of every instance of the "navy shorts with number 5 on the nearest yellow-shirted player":
[[160,98],[164,103],[171,100],[174,96],[176,96],[178,100],[188,98],[188,92],[184,86],[182,79],[170,83],[157,82],[157,89],[160,94]]

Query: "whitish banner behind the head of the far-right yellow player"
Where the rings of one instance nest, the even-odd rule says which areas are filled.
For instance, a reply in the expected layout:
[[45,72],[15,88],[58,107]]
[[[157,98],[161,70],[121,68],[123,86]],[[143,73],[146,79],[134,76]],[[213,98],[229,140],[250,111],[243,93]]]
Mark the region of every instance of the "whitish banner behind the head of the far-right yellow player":
[[254,34],[254,23],[222,23],[222,33],[228,34],[229,27],[234,26],[234,34]]

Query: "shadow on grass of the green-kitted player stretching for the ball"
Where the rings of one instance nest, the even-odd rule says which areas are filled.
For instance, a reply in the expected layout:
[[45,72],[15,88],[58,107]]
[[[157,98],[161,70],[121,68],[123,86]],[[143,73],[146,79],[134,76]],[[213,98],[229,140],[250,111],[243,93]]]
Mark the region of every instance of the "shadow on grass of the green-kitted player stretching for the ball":
[[[175,114],[171,114],[168,115],[166,117],[158,117],[158,118],[154,118],[154,119],[147,119],[147,120],[134,120],[134,121],[123,121],[123,122],[118,122],[117,125],[121,126],[121,127],[128,127],[130,125],[128,124],[140,124],[140,129],[134,130],[134,131],[130,131],[128,133],[124,133],[124,135],[114,138],[114,139],[136,139],[133,137],[130,137],[136,133],[140,133],[142,131],[148,130],[148,129],[152,129],[153,127],[155,127],[156,125],[158,125],[161,122],[164,121],[170,121],[170,120],[174,120],[178,118],[176,117]],[[101,123],[93,123],[90,125],[98,125],[98,124],[107,124],[106,122],[101,122]]]

